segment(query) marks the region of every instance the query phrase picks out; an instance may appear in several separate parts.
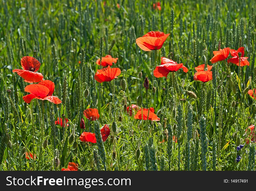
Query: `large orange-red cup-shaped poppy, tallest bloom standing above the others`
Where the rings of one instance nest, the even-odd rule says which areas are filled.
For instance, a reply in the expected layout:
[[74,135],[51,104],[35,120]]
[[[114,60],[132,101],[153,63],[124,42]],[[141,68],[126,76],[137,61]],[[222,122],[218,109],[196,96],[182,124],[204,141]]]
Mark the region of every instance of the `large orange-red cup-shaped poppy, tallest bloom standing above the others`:
[[136,43],[144,51],[159,50],[169,35],[159,31],[150,31],[137,38]]

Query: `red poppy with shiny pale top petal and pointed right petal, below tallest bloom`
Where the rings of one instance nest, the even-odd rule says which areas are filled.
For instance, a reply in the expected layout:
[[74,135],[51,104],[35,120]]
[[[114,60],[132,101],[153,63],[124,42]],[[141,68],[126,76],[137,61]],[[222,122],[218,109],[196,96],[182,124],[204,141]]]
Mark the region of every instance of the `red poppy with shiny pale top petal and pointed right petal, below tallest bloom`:
[[183,63],[178,64],[177,62],[170,60],[165,57],[161,57],[161,65],[157,66],[154,70],[154,76],[157,78],[166,77],[169,74],[169,72],[176,72],[182,68],[183,72],[188,72],[188,68],[186,66],[183,66]]

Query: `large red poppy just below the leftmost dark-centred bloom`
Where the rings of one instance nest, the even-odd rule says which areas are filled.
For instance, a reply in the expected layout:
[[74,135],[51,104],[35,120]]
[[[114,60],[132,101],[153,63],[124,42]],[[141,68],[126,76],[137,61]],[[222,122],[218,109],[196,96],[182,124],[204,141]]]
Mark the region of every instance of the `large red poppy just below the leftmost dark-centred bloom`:
[[25,87],[25,92],[30,94],[23,96],[23,100],[26,103],[30,103],[32,99],[48,100],[52,103],[59,104],[61,100],[58,97],[53,96],[54,83],[50,80],[40,81],[38,84],[29,84]]

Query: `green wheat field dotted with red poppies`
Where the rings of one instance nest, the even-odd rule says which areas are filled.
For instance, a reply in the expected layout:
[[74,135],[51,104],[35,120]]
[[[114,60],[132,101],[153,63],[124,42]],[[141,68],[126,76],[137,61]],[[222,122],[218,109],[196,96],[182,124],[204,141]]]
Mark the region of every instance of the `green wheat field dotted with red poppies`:
[[256,1],[0,4],[0,170],[255,170]]

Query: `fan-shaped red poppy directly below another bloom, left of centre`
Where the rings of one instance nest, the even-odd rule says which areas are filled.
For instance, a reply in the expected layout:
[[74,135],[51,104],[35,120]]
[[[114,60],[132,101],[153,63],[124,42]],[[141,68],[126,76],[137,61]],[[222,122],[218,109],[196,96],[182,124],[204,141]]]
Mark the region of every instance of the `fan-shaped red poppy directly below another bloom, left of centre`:
[[94,79],[99,83],[104,81],[112,81],[113,79],[117,78],[121,74],[121,70],[119,68],[102,68],[101,70],[97,70]]

